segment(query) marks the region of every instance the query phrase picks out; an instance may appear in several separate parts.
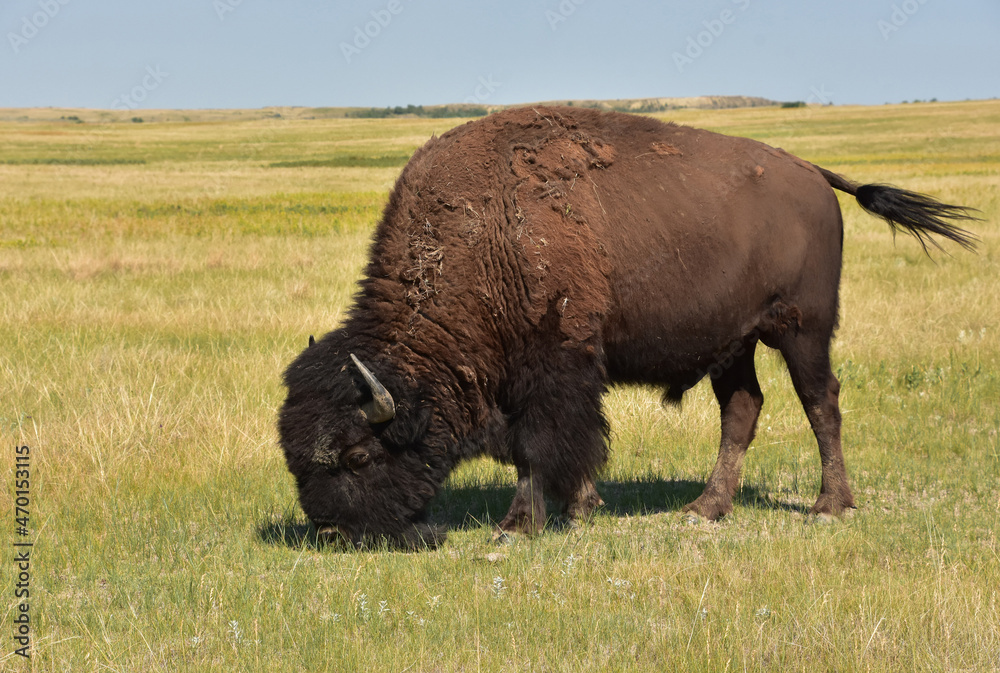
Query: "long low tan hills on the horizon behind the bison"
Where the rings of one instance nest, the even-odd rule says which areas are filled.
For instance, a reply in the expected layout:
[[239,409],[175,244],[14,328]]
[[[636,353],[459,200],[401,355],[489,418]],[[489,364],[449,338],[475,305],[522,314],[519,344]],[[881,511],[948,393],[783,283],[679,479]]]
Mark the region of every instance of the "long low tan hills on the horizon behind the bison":
[[252,110],[95,110],[89,108],[0,108],[0,121],[65,121],[67,123],[223,122],[256,119],[337,119],[399,117],[481,117],[511,107],[571,105],[620,112],[666,112],[694,108],[722,110],[769,107],[778,101],[757,96],[690,96],[617,100],[555,100],[518,105],[407,105],[387,108],[273,106]]

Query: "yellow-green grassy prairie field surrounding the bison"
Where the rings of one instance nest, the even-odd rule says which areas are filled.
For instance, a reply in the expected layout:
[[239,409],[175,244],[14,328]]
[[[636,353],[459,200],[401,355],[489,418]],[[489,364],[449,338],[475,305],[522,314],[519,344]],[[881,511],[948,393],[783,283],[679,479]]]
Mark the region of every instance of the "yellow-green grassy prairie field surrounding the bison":
[[815,440],[761,349],[722,522],[679,514],[715,461],[703,383],[680,410],[609,394],[607,506],[578,529],[494,546],[513,475],[483,461],[433,507],[441,549],[317,547],[277,446],[280,374],[344,315],[405,157],[457,120],[0,122],[0,668],[1000,670],[1000,102],[671,118],[982,210],[977,255],[931,260],[842,201],[842,521],[806,516]]

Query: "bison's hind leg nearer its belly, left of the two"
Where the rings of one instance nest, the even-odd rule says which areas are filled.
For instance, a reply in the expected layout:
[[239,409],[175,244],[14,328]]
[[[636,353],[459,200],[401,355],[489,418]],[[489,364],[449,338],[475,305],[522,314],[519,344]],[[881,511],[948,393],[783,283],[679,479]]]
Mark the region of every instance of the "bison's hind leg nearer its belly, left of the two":
[[734,356],[727,368],[712,375],[712,389],[719,401],[722,416],[722,439],[715,469],[698,499],[684,507],[710,521],[733,510],[733,496],[739,484],[740,469],[750,442],[757,429],[757,417],[764,404],[764,395],[754,369],[757,342],[744,344],[742,354]]

